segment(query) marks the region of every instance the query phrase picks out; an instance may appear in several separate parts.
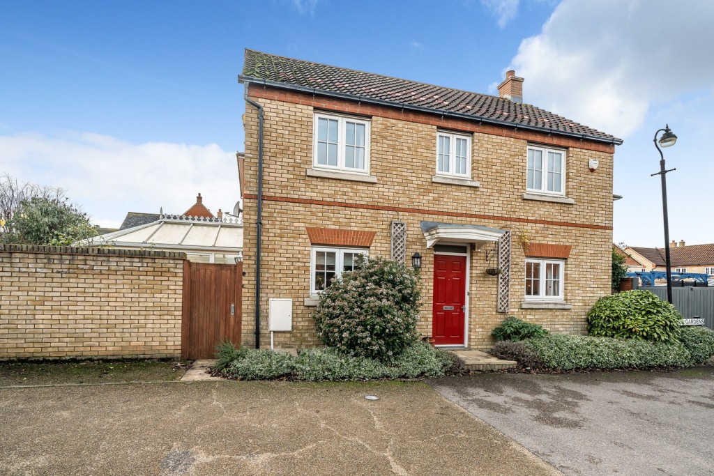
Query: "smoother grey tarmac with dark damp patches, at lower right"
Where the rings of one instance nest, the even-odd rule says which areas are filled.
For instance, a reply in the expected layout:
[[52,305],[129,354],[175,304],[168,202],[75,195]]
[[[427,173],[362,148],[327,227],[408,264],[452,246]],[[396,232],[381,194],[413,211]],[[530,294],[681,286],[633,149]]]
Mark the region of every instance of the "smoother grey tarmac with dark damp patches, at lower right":
[[568,475],[714,474],[714,368],[431,384]]

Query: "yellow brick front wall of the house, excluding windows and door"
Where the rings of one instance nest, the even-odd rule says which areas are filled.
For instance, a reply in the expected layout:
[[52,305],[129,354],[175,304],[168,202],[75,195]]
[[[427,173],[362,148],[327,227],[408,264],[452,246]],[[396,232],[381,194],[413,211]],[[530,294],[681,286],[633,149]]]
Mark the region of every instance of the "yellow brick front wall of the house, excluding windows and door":
[[[252,91],[252,90],[251,90]],[[472,348],[490,348],[491,330],[507,315],[539,323],[556,333],[584,333],[585,315],[610,293],[612,247],[613,148],[574,141],[566,151],[565,191],[574,204],[532,201],[526,191],[528,140],[470,131],[472,179],[480,186],[433,183],[436,133],[433,120],[400,119],[378,113],[371,123],[370,173],[376,183],[307,176],[313,164],[313,115],[308,101],[281,101],[256,96],[264,108],[263,238],[261,265],[261,346],[270,343],[268,300],[292,298],[293,331],[276,333],[278,347],[318,345],[306,305],[310,293],[311,243],[306,226],[373,231],[370,255],[389,257],[391,221],[407,225],[407,254],[423,256],[423,305],[419,330],[431,335],[433,250],[426,248],[421,221],[488,226],[513,232],[510,310],[496,312],[498,279],[486,275],[484,250],[471,250],[468,288],[468,334]],[[363,116],[363,118],[364,118]],[[425,115],[426,116],[426,115]],[[246,197],[244,203],[243,344],[254,345],[256,195],[258,181],[258,113],[246,104]],[[453,127],[452,127],[453,129]],[[512,130],[512,129],[511,129]],[[458,131],[458,129],[457,129]],[[533,136],[533,134],[531,134]],[[533,139],[530,139],[533,141]],[[538,143],[555,138],[540,134]],[[593,173],[588,160],[600,162]],[[331,203],[310,203],[323,201]],[[378,208],[378,209],[375,209]],[[466,213],[470,217],[454,216]],[[474,215],[480,218],[473,218]],[[543,223],[553,222],[553,223]],[[565,302],[570,310],[524,309],[525,255],[520,236],[535,243],[571,245],[565,262]]]

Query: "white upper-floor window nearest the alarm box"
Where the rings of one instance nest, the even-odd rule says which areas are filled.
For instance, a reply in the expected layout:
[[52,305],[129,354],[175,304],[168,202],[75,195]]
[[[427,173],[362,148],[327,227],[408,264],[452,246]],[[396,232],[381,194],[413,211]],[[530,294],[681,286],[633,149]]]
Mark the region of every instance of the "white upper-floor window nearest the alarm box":
[[528,146],[526,190],[565,196],[565,151]]

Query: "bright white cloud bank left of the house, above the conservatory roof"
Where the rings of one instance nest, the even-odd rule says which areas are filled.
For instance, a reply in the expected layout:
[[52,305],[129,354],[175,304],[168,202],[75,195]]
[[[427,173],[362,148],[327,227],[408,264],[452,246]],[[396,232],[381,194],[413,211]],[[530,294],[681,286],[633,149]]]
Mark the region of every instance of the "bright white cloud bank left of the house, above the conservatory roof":
[[183,213],[201,193],[211,212],[238,201],[236,155],[216,144],[134,144],[95,133],[0,136],[0,173],[65,188],[93,217],[116,227],[128,211]]

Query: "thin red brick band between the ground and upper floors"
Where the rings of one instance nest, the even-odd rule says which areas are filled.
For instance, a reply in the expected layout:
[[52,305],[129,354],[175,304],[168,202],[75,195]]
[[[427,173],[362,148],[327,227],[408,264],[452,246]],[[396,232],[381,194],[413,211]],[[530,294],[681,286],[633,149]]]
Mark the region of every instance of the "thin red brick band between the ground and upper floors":
[[[257,200],[258,196],[252,193],[246,193],[243,198],[246,200]],[[380,210],[380,211],[396,211],[399,213],[418,213],[420,215],[436,215],[436,216],[453,216],[459,218],[476,218],[478,220],[497,220],[497,221],[514,221],[516,223],[535,223],[537,225],[553,225],[553,226],[568,226],[571,228],[588,228],[590,230],[609,230],[613,227],[605,225],[590,225],[589,223],[568,223],[566,221],[550,221],[550,220],[533,220],[533,218],[516,218],[511,216],[498,215],[481,215],[478,213],[461,213],[456,211],[441,211],[441,210],[426,210],[423,208],[405,208],[391,207],[383,205],[368,205],[366,203],[345,203],[331,202],[325,200],[308,200],[306,198],[291,198],[278,197],[272,195],[263,195],[264,201],[269,202],[284,202],[284,203],[303,203],[305,205],[333,206],[340,208],[361,208],[363,210]]]

